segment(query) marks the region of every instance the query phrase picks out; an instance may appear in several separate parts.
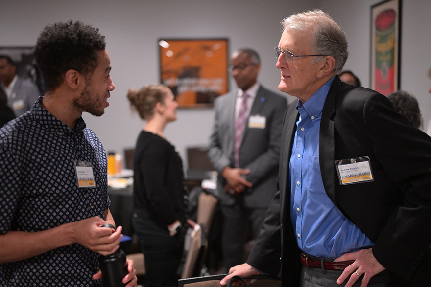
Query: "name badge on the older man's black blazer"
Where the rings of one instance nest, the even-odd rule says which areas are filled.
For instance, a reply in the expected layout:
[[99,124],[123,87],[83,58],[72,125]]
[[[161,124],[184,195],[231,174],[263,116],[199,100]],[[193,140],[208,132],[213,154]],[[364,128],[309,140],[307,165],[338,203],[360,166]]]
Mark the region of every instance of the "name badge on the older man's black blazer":
[[335,160],[335,167],[340,185],[374,181],[368,156]]

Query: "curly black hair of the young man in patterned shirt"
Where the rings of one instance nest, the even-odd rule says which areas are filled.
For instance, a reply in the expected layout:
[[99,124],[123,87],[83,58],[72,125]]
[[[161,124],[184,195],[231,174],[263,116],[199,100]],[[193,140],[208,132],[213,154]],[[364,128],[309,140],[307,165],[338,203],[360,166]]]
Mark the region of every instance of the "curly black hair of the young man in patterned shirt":
[[34,48],[34,58],[42,73],[45,90],[53,91],[63,82],[68,70],[86,77],[97,66],[97,51],[105,49],[105,36],[81,21],[47,25]]

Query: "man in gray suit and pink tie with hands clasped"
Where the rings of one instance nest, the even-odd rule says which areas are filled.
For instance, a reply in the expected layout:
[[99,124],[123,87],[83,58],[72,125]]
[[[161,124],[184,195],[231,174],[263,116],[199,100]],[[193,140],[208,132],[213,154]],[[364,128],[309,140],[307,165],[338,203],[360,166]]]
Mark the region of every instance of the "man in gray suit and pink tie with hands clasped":
[[231,57],[238,90],[216,99],[208,156],[218,172],[222,250],[227,270],[244,261],[247,220],[257,237],[277,192],[278,159],[286,98],[257,82],[259,55],[240,49]]

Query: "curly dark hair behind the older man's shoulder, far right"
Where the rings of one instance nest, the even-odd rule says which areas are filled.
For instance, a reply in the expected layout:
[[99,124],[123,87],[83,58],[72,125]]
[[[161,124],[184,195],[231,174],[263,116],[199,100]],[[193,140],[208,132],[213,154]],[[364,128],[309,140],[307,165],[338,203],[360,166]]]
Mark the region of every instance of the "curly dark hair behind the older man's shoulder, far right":
[[410,123],[420,128],[422,126],[422,115],[416,98],[406,91],[399,90],[387,96],[394,105],[395,110],[407,117]]

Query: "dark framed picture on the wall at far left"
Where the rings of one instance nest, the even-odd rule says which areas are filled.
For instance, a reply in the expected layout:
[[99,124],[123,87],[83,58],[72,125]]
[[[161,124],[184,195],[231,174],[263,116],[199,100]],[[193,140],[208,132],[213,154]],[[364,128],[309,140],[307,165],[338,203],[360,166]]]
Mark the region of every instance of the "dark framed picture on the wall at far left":
[[16,67],[15,74],[24,80],[33,82],[39,88],[40,93],[44,94],[44,83],[33,58],[33,47],[0,47],[0,55],[11,58]]

